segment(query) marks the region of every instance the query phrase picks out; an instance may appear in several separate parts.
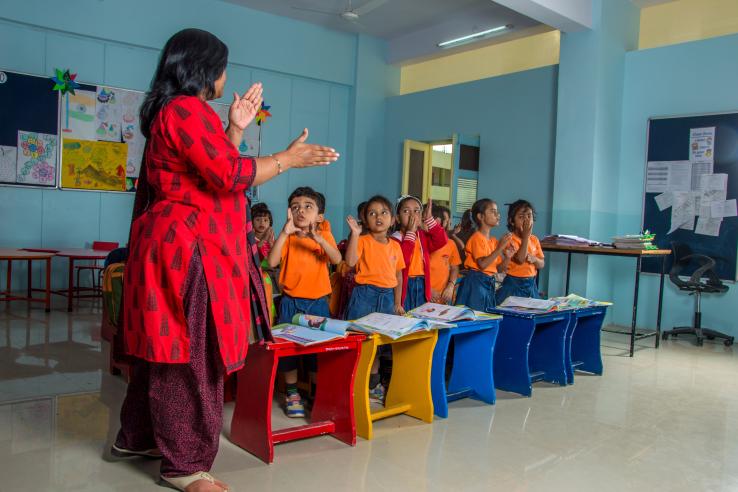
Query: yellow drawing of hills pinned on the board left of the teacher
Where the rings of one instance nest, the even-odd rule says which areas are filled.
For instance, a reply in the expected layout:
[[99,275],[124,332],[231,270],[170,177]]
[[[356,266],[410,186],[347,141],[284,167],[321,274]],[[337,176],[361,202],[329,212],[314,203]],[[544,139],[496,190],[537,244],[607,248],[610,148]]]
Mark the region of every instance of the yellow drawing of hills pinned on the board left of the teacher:
[[62,187],[126,191],[128,144],[64,139]]

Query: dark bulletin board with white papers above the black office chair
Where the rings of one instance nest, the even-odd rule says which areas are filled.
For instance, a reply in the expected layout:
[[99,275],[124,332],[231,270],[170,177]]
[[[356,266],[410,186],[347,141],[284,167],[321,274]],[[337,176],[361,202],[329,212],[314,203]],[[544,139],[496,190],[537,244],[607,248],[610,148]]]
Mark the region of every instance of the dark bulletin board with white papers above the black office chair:
[[[738,113],[652,118],[647,149],[644,230],[660,248],[681,242],[713,258],[721,279],[736,280]],[[658,273],[660,263],[644,259],[642,269]]]

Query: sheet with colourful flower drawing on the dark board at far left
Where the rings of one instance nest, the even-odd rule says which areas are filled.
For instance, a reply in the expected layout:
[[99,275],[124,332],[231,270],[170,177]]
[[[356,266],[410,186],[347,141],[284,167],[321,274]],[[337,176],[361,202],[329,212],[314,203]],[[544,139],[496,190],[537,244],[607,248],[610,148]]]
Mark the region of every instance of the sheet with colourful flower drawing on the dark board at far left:
[[16,181],[24,184],[56,184],[58,137],[46,133],[18,131]]

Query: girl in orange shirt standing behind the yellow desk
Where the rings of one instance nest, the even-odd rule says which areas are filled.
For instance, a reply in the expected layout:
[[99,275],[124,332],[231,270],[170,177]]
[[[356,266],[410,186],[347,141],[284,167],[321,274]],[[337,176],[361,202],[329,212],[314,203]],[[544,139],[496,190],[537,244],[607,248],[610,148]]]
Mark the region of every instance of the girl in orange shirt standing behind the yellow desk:
[[[405,261],[397,241],[387,237],[392,226],[392,204],[383,196],[366,202],[362,217],[366,234],[356,219],[346,219],[351,228],[346,248],[346,264],[356,267],[354,290],[351,292],[346,319],[355,320],[369,313],[402,314],[402,273]],[[379,357],[372,362],[369,397],[384,403],[384,386],[379,377]]]

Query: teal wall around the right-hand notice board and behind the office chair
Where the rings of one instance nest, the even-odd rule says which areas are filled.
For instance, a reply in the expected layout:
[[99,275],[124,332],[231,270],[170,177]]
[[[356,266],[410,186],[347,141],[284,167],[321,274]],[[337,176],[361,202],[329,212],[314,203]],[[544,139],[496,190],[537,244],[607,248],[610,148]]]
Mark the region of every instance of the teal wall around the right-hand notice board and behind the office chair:
[[[695,67],[708,67],[707,71]],[[623,97],[621,160],[618,177],[618,233],[641,227],[643,179],[646,163],[648,118],[738,111],[738,35],[718,37],[626,55]],[[613,277],[616,302],[614,321],[630,323],[632,270]],[[738,336],[738,286],[726,294],[703,297],[702,323]],[[638,325],[653,327],[656,320],[658,277],[644,275],[641,283]],[[663,327],[689,325],[693,298],[667,280]]]

